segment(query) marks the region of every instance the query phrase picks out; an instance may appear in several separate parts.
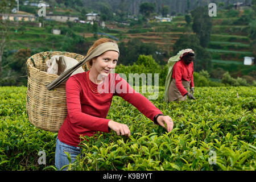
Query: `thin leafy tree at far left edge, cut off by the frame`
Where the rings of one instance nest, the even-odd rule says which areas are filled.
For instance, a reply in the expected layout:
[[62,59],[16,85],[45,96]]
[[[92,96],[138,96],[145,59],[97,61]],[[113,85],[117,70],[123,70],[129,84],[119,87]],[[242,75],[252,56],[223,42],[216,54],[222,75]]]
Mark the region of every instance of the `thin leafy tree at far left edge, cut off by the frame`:
[[2,56],[3,56],[3,51],[5,49],[6,43],[9,39],[9,14],[11,13],[11,10],[13,10],[13,7],[15,5],[15,0],[2,0],[0,1],[0,13],[6,14],[8,19],[2,19],[0,20],[0,37],[1,37],[1,42],[0,42],[0,78],[2,77]]

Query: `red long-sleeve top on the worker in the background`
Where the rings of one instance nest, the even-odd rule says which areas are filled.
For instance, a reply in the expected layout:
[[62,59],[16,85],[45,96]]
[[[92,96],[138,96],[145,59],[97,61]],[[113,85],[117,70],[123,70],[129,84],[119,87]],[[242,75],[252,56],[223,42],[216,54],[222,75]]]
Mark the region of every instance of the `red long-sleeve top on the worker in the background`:
[[191,64],[185,64],[185,62],[181,59],[177,61],[174,65],[174,69],[172,71],[172,78],[175,78],[176,80],[176,86],[177,89],[180,91],[180,94],[182,96],[185,96],[185,94],[188,92],[184,86],[182,85],[182,80],[190,81],[190,87],[194,87],[194,65],[193,61]]

